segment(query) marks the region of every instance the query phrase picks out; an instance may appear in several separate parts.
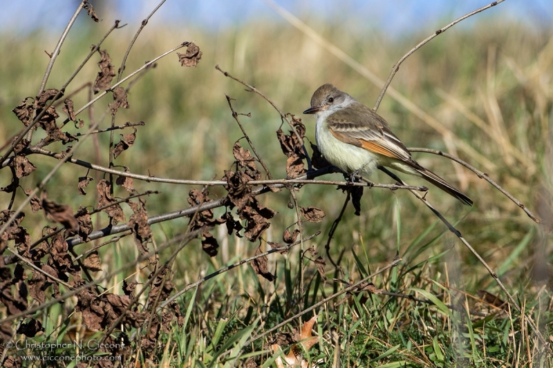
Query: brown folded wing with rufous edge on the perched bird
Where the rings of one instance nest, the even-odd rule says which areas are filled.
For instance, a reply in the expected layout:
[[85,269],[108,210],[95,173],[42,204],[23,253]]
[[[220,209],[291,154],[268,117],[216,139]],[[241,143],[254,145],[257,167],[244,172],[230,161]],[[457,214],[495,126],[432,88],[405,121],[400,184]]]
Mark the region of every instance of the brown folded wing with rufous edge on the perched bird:
[[392,133],[383,117],[362,104],[355,105],[351,106],[354,108],[346,108],[327,117],[328,130],[332,135],[341,142],[371,152],[404,162],[414,162],[411,153]]

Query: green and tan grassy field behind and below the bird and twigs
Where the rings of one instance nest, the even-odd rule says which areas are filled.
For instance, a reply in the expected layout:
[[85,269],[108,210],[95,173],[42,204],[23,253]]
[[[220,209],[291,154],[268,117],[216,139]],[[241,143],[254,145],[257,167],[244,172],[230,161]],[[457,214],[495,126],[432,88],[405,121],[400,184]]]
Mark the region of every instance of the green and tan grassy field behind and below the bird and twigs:
[[[90,44],[97,42],[106,27],[100,23],[93,28],[76,28],[71,33],[48,81],[49,88],[64,83],[86,55]],[[427,36],[412,35],[397,41],[373,32],[355,39],[344,32],[335,32],[335,29],[331,26],[317,30],[383,79],[404,52]],[[109,50],[116,68],[132,33],[131,26],[118,30],[102,47]],[[0,37],[0,50],[12,50],[0,53],[2,141],[22,128],[10,110],[24,97],[37,93],[48,61],[43,50],[52,49],[57,37],[48,32],[37,32],[25,39],[15,35]],[[115,160],[118,165],[129,166],[133,173],[147,174],[150,171],[158,177],[209,180],[223,177],[224,170],[234,169],[232,146],[242,133],[228,109],[227,94],[236,99],[233,106],[238,113],[252,113],[251,118],[241,117],[245,130],[273,176],[285,177],[286,157],[274,133],[281,125],[279,115],[261,97],[247,93],[243,86],[216,71],[216,64],[259,88],[283,111],[298,116],[308,107],[315,88],[326,82],[332,82],[368,106],[373,106],[379,93],[379,88],[328,55],[299,31],[288,25],[270,23],[262,26],[246,24],[218,31],[147,27],[144,37],[138,39],[131,51],[126,72],[135,70],[144,61],[178,43],[192,39],[204,52],[198,67],[181,68],[175,55],[162,59],[156,69],[150,70],[131,89],[131,108],[120,110],[116,117],[116,124],[126,121],[147,123],[138,129],[135,145]],[[435,188],[431,188],[427,195],[500,275],[547,341],[553,332],[550,308],[552,238],[547,233],[547,226],[552,226],[553,219],[550,148],[553,95],[547,84],[547,80],[553,77],[552,45],[550,30],[538,34],[518,24],[487,20],[477,22],[474,28],[463,32],[453,28],[407,59],[393,80],[393,88],[438,119],[451,130],[451,137],[442,137],[407,106],[391,97],[385,97],[379,108],[379,113],[390,122],[406,146],[440,149],[471,162],[543,220],[543,225],[535,224],[516,204],[465,168],[454,168],[442,157],[414,155],[420,164],[455,183],[474,200],[474,208],[468,209]],[[67,93],[93,80],[96,73],[97,66],[91,62]],[[75,106],[82,106],[87,95],[79,93],[73,100]],[[109,103],[111,97],[95,104],[93,113],[96,119]],[[82,114],[82,118],[88,126],[88,114]],[[479,119],[485,125],[480,124]],[[315,142],[314,121],[307,118],[304,123],[307,137]],[[109,118],[104,119],[100,126],[109,126]],[[68,125],[68,130],[76,131],[72,124]],[[286,130],[285,126],[283,130]],[[118,137],[119,133],[116,132],[115,136]],[[124,134],[128,133],[124,131]],[[39,134],[37,132],[35,139],[41,137]],[[98,138],[98,164],[107,166],[108,135],[104,133]],[[244,140],[241,143],[247,148]],[[468,144],[476,154],[462,149],[460,143]],[[61,144],[48,148],[53,151],[65,149]],[[96,153],[93,141],[89,139],[75,157],[95,162]],[[50,157],[31,155],[29,158],[37,166],[37,171],[21,180],[23,188],[35,186],[57,164],[57,160]],[[77,195],[77,177],[84,175],[85,168],[66,164],[48,184],[48,196],[55,202],[69,204],[75,211],[79,204],[95,206],[94,188],[102,179],[102,173],[89,173],[95,182],[88,186],[85,197]],[[337,174],[330,178],[341,180]],[[10,179],[8,170],[0,171],[1,186],[8,185]],[[390,182],[381,174],[371,179]],[[406,180],[409,184],[424,184],[409,177]],[[188,206],[189,186],[135,180],[135,187],[139,192],[162,192],[147,197],[149,215]],[[212,198],[226,195],[219,187],[209,188],[209,191]],[[118,187],[115,195],[125,197],[126,193]],[[131,342],[124,352],[122,366],[131,362],[144,367],[277,366],[271,348],[275,333],[250,344],[245,342],[344,288],[344,284],[333,282],[332,278],[357,282],[384,267],[396,255],[402,258],[402,262],[373,278],[375,288],[429,299],[433,303],[385,293],[361,292],[339,297],[316,309],[319,318],[315,331],[320,339],[310,351],[304,352],[306,359],[311,362],[322,360],[318,364],[320,367],[524,367],[531,363],[533,367],[548,367],[551,364],[550,356],[542,354],[536,336],[514,308],[507,310],[511,313],[509,316],[507,311],[479,300],[479,290],[488,291],[502,300],[506,298],[476,258],[410,193],[366,188],[362,215],[356,217],[353,208],[346,209],[330,243],[333,260],[344,252],[341,271],[330,266],[324,246],[345,194],[332,186],[307,185],[296,195],[301,206],[314,205],[326,213],[321,223],[303,224],[306,235],[322,232],[306,242],[303,250],[315,246],[319,255],[323,255],[327,264],[326,282],[317,273],[313,262],[305,258],[300,262],[299,246],[286,255],[270,255],[269,268],[277,275],[275,282],[259,278],[249,265],[231,269],[179,298],[182,323],[174,320],[168,331],[162,329],[153,349],[142,348],[140,337]],[[24,194],[19,191],[16,206],[24,199]],[[9,200],[10,194],[0,195],[2,209],[7,208]],[[297,220],[295,209],[288,208],[290,193],[267,193],[259,200],[263,206],[278,211],[270,220],[271,227],[263,234],[263,240],[282,242],[281,233]],[[128,207],[124,209],[128,218],[131,211]],[[41,212],[32,214],[30,209],[25,212],[23,225],[27,226],[32,241],[35,241],[48,222]],[[216,216],[223,213],[223,209],[215,211]],[[95,228],[102,228],[107,224],[107,217],[102,214],[98,220],[94,219],[94,223]],[[155,245],[160,246],[184,233],[187,224],[188,220],[178,219],[153,226]],[[214,229],[212,233],[221,244],[215,258],[209,258],[201,251],[198,240],[178,254],[171,269],[171,282],[176,290],[227,264],[254,255],[259,246],[259,243],[252,244],[235,235],[227,235],[225,229]],[[265,241],[262,248],[269,249]],[[82,244],[75,251],[81,253],[90,246]],[[150,245],[150,249],[152,247]],[[161,262],[165,262],[173,251],[174,248],[161,251]],[[131,237],[104,246],[100,249],[104,271],[94,275],[99,278],[104,272],[134,262],[138,255]],[[309,255],[309,258],[317,256]],[[10,267],[13,271],[13,265]],[[152,271],[147,262],[141,262],[104,282],[101,287],[122,295],[124,278],[128,278],[128,282],[139,282],[140,289]],[[27,273],[30,275],[30,271]],[[302,274],[303,292],[299,281]],[[66,291],[63,286],[61,291]],[[51,292],[50,287],[47,298]],[[346,300],[339,303],[343,298]],[[138,304],[139,310],[147,304],[147,293]],[[451,310],[448,304],[458,308]],[[75,298],[36,313],[35,318],[41,320],[45,331],[32,338],[33,342],[101,338],[102,333],[89,331],[83,325],[81,313],[72,313],[74,307]],[[467,309],[487,316],[474,313],[468,316]],[[3,306],[0,307],[0,316],[7,316]],[[301,320],[305,322],[311,316],[313,313],[308,313]],[[14,328],[15,323],[10,327]],[[292,333],[299,327],[299,320],[295,320],[279,332]],[[124,340],[135,332],[136,329],[126,329],[126,335],[115,331],[112,336]],[[138,333],[138,336],[144,336],[147,332],[141,330]],[[23,336],[17,335],[15,340],[20,338]],[[285,354],[289,349],[283,347]],[[71,354],[73,352],[71,350]],[[8,356],[12,353],[10,351]],[[86,354],[94,353],[86,351]],[[17,354],[30,352],[21,350]],[[53,354],[64,355],[67,351],[56,349],[50,355]],[[24,366],[31,365],[24,362]]]

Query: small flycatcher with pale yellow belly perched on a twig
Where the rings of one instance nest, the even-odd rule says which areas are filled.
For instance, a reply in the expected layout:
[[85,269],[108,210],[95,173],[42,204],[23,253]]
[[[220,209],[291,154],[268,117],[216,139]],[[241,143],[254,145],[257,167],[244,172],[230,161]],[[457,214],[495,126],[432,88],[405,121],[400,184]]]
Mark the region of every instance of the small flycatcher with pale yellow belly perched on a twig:
[[311,107],[303,113],[315,114],[319,151],[342,171],[371,175],[377,166],[387,166],[420,176],[463,204],[472,205],[469,197],[412,159],[384,118],[332,84],[317,88]]

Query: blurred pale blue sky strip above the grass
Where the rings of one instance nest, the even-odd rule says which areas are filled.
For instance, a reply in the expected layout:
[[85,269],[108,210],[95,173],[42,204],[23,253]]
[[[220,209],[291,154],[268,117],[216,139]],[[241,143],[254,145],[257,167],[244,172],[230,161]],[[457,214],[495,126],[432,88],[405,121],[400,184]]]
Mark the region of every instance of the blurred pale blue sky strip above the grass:
[[[98,16],[108,23],[122,19],[136,23],[151,12],[159,0],[100,0],[95,4]],[[341,19],[402,35],[424,28],[436,28],[446,21],[485,6],[489,0],[275,0],[301,19]],[[37,29],[58,31],[73,13],[78,0],[3,1],[0,32],[24,35]],[[552,0],[506,0],[477,15],[511,17],[536,28],[553,24]],[[474,19],[463,26],[470,26]],[[188,26],[219,28],[252,19],[275,19],[263,0],[167,0],[151,19],[151,24],[179,23]]]

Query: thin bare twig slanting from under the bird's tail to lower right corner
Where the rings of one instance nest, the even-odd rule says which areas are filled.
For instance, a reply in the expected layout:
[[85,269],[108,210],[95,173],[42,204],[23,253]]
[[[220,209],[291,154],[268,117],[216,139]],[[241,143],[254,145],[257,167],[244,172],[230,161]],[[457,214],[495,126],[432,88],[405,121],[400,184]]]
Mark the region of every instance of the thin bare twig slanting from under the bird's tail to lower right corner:
[[[378,168],[379,168],[379,170],[384,171],[384,173],[386,173],[387,175],[392,177],[394,180],[397,180],[397,182],[400,182],[401,184],[404,184],[404,182],[400,179],[400,177],[398,177],[397,175],[395,175],[391,171],[388,171],[386,168],[384,168],[382,166],[378,166]],[[528,316],[526,316],[525,313],[523,313],[521,307],[518,306],[518,303],[516,302],[516,300],[514,300],[512,295],[509,293],[509,291],[507,291],[507,288],[505,288],[505,285],[503,285],[503,282],[501,282],[501,280],[499,280],[499,277],[498,277],[497,273],[493,269],[491,269],[491,267],[489,267],[487,262],[482,257],[480,257],[480,254],[478,254],[478,252],[471,246],[471,244],[469,244],[469,242],[467,242],[467,240],[465,240],[465,238],[462,237],[461,233],[457,229],[455,229],[455,227],[453,227],[453,225],[450,224],[449,221],[447,221],[445,219],[445,217],[443,217],[442,214],[440,212],[438,212],[438,210],[434,209],[434,207],[431,206],[431,204],[427,201],[427,199],[424,196],[420,195],[416,191],[411,191],[411,193],[413,193],[413,195],[418,197],[418,199],[420,199],[436,216],[438,216],[438,218],[447,226],[447,229],[449,229],[449,231],[451,231],[453,234],[455,234],[457,236],[457,238],[459,238],[459,240],[463,244],[465,244],[465,246],[469,249],[469,251],[471,251],[471,253],[474,254],[474,256],[478,259],[478,261],[480,261],[480,263],[487,269],[487,271],[491,275],[491,277],[494,278],[496,283],[499,285],[500,289],[503,290],[503,293],[505,293],[505,295],[509,299],[509,302],[516,308],[518,313],[521,313],[521,316],[523,316],[524,320],[527,321],[528,325],[530,325],[530,327],[532,327],[532,331],[534,331],[534,333],[536,334],[536,336],[538,337],[540,342],[543,345],[545,345],[546,344],[545,339],[541,335],[540,331],[538,331],[538,328],[536,327],[536,325],[534,325],[534,321],[532,321],[532,319],[530,319]]]

